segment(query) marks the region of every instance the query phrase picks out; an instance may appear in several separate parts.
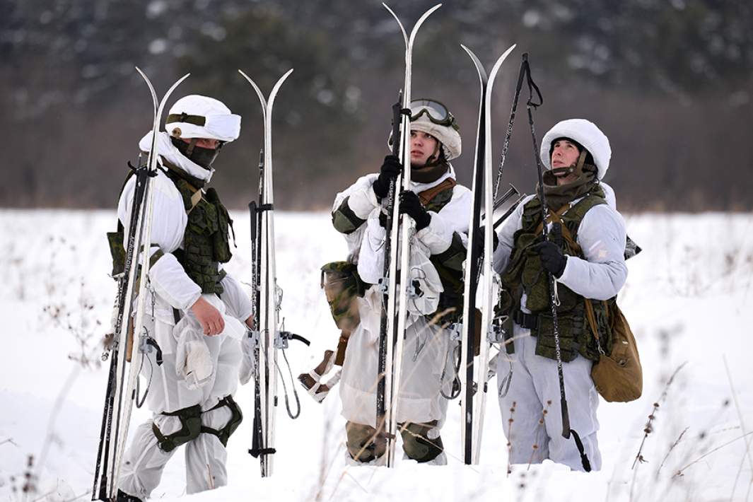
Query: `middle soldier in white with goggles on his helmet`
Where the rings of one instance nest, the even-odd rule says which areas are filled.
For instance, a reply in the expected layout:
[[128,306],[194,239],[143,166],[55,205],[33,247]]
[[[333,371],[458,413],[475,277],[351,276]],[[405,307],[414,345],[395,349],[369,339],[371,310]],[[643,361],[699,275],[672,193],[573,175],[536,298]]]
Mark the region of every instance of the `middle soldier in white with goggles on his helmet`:
[[[439,434],[453,380],[450,357],[455,342],[447,325],[462,309],[462,260],[468,230],[470,191],[456,183],[450,160],[461,139],[455,119],[441,103],[419,99],[410,108],[411,190],[399,194],[401,213],[415,222],[410,238],[410,282],[402,380],[398,391],[398,430],[408,458],[446,463]],[[385,158],[380,172],[359,178],[337,197],[334,227],[346,239],[349,260],[324,269],[324,284],[341,281],[352,288],[328,294],[335,320],[346,329],[340,398],[349,458],[379,463],[376,388],[378,339],[383,302],[386,213],[383,200],[401,172],[398,158]],[[330,290],[333,291],[330,286]],[[343,294],[343,291],[345,292]],[[342,349],[341,349],[342,350]],[[332,362],[334,354],[330,353]],[[398,361],[395,362],[398,364]],[[331,364],[328,366],[331,367]],[[309,373],[316,378],[319,372]],[[305,382],[304,382],[305,383]],[[316,394],[316,393],[315,393]]]

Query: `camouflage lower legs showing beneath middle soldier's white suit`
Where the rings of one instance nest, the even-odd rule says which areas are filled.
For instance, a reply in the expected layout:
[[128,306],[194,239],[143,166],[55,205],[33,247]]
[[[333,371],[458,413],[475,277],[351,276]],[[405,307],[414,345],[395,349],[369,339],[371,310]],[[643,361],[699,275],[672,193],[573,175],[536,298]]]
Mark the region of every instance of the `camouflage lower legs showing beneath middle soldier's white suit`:
[[[437,458],[444,451],[444,446],[436,427],[436,420],[425,424],[398,424],[405,455],[417,462],[428,462]],[[377,451],[377,443],[374,442],[377,429],[374,427],[349,421],[345,424],[345,432],[348,453],[354,460],[370,462],[384,455],[383,450]]]

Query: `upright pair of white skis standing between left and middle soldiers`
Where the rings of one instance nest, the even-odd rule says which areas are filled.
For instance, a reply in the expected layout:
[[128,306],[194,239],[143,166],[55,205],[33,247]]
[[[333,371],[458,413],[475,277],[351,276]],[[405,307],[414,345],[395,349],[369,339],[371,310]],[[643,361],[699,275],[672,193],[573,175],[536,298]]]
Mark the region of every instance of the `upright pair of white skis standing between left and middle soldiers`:
[[[251,211],[251,241],[252,241],[252,306],[254,329],[248,331],[252,342],[254,357],[254,423],[252,448],[248,450],[259,459],[261,476],[271,476],[274,467],[275,430],[277,415],[277,375],[279,373],[283,390],[285,391],[285,406],[291,418],[300,415],[300,400],[295,390],[293,376],[290,375],[291,388],[296,401],[296,412],[292,413],[289,402],[287,385],[280,370],[277,354],[278,349],[287,363],[285,348],[288,341],[297,339],[309,345],[309,341],[302,336],[285,331],[279,323],[279,311],[282,303],[282,289],[277,286],[275,262],[275,230],[274,230],[274,196],[272,171],[272,109],[275,98],[282,83],[293,72],[291,68],[272,88],[269,99],[258,85],[243,71],[239,73],[256,91],[264,117],[264,148],[259,159],[259,200],[250,202]],[[288,373],[290,364],[288,364]]]

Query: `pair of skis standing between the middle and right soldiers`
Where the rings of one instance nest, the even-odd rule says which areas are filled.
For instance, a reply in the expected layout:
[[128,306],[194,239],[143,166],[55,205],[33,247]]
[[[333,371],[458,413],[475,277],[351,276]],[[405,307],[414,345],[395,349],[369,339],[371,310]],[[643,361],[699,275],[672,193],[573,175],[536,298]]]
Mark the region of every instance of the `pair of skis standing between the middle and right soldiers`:
[[[471,187],[472,205],[471,221],[468,224],[468,253],[465,260],[465,292],[463,297],[463,324],[461,332],[461,441],[463,445],[463,462],[478,464],[480,457],[480,440],[483,429],[483,415],[486,412],[487,375],[489,373],[489,338],[493,316],[492,296],[495,287],[492,269],[494,225],[494,193],[492,179],[492,88],[499,69],[508,55],[515,48],[512,45],[505,51],[492,67],[487,78],[477,56],[465,45],[463,50],[474,62],[480,81],[479,119],[474,157],[473,184]],[[483,198],[481,196],[483,187]],[[486,214],[486,224],[481,227],[481,208]],[[482,235],[483,232],[483,235]],[[483,248],[477,242],[483,239]],[[479,287],[483,278],[483,288]],[[480,301],[477,294],[480,291]],[[480,347],[476,356],[477,331],[475,311],[480,305]],[[478,357],[479,364],[476,364]]]

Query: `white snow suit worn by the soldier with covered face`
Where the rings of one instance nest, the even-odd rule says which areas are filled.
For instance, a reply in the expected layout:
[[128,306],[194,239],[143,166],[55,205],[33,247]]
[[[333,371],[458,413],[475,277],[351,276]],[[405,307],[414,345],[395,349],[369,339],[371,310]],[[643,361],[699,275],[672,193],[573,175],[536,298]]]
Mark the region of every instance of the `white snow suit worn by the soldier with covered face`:
[[[165,132],[158,134],[160,156],[194,178],[209,181],[212,171],[187,160]],[[149,150],[151,132],[142,138],[139,146],[142,151]],[[135,181],[135,177],[128,181],[118,203],[117,214],[126,227],[126,235]],[[212,408],[236,391],[243,358],[241,340],[245,339],[243,322],[252,312],[248,294],[230,275],[221,281],[224,292],[220,297],[203,295],[200,286],[187,276],[172,254],[182,247],[187,224],[181,193],[161,170],[152,179],[151,187],[154,190],[151,254],[160,250],[163,256],[149,269],[145,327],[160,345],[164,362],[158,367],[154,351],[145,354],[142,388],[145,379],[149,382],[147,403],[154,415],[133,434],[130,448],[123,457],[119,485],[127,494],[142,500],[157,487],[163,467],[175,452],[175,449],[171,452],[160,449],[153,424],[164,436],[181,429],[177,416],[162,413],[200,405],[203,426],[220,430],[230,421],[229,407]],[[224,331],[217,336],[205,336],[191,312],[191,306],[200,297],[212,303],[224,317]],[[180,312],[177,324],[173,309]],[[250,370],[249,364],[245,364],[245,370]],[[226,457],[225,447],[214,434],[202,433],[189,441],[185,450],[187,493],[226,485]]]

